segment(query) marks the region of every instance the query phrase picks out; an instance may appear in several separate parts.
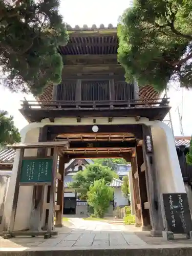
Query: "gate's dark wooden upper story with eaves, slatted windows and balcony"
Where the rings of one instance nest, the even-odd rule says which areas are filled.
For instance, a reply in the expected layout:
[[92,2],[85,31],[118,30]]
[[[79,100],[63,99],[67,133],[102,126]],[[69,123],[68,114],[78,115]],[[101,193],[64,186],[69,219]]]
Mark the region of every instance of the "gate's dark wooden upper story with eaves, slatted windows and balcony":
[[55,117],[147,117],[163,120],[168,99],[159,99],[152,86],[126,83],[117,61],[116,28],[70,31],[63,57],[62,82],[48,86],[38,101],[23,101],[20,112],[30,122]]

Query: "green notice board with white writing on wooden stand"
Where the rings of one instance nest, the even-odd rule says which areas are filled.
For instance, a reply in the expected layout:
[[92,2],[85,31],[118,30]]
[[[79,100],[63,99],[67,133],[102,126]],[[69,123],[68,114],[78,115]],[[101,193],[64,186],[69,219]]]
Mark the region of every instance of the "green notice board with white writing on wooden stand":
[[52,181],[53,159],[24,159],[20,172],[20,183],[42,184]]

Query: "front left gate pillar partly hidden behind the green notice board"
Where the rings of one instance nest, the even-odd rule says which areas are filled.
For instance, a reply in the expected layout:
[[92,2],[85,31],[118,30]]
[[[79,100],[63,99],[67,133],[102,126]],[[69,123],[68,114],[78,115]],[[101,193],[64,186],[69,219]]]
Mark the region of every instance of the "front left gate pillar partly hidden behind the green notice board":
[[[39,142],[47,141],[48,129],[47,127],[42,127],[39,129]],[[37,157],[46,157],[47,149],[39,148],[37,150]],[[45,186],[34,186],[33,188],[33,206],[30,219],[30,230],[40,231],[41,230],[41,216],[43,212],[44,204],[44,188]]]

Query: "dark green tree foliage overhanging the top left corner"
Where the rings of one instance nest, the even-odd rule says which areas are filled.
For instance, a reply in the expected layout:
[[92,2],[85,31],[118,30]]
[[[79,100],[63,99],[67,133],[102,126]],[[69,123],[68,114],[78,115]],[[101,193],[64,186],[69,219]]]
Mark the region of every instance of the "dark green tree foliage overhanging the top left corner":
[[38,95],[48,84],[61,81],[58,45],[68,34],[59,0],[3,0],[0,3],[0,65],[12,91]]

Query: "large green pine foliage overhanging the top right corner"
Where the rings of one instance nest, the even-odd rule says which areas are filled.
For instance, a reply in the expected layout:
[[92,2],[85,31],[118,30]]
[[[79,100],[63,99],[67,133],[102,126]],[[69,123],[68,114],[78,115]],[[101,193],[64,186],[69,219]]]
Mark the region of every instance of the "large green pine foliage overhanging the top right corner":
[[166,88],[169,79],[192,87],[192,2],[136,0],[120,18],[118,60],[127,81]]

